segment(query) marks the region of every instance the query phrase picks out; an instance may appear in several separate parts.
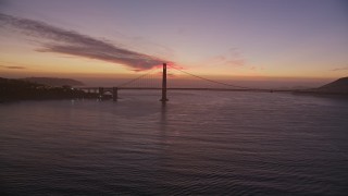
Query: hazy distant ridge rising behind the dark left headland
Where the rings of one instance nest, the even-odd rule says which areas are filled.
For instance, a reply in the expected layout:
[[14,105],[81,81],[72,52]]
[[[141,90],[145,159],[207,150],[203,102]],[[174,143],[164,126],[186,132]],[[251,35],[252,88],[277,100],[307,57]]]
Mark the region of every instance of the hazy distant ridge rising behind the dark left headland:
[[84,86],[85,84],[72,78],[58,77],[26,77],[23,81],[30,83],[44,84],[49,86]]

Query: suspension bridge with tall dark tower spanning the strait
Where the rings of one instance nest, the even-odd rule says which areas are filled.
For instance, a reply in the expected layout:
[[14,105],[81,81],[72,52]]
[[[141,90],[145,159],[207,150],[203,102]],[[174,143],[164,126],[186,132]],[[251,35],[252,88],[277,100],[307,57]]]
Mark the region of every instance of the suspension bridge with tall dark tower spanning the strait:
[[[167,90],[220,90],[220,91],[294,91],[283,89],[266,89],[266,88],[251,88],[246,86],[233,85],[222,81],[215,81],[192,74],[184,71],[183,69],[175,68],[173,65],[162,64],[162,72],[158,72],[159,69],[150,70],[149,72],[137,76],[133,79],[117,84],[113,87],[79,87],[79,89],[87,93],[95,93],[102,98],[107,93],[112,95],[112,99],[117,101],[120,90],[161,90],[162,97],[160,101],[166,102]],[[175,78],[170,73],[171,78],[169,79],[167,71],[176,71],[183,75],[189,76],[190,78]],[[195,78],[195,79],[192,79]],[[202,83],[204,82],[206,85]],[[207,85],[208,84],[208,85]]]

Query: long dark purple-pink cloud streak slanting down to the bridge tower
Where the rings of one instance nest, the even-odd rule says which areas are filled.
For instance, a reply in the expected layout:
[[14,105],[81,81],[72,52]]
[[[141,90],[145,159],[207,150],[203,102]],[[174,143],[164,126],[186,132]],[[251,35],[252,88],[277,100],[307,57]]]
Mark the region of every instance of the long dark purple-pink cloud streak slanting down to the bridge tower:
[[107,40],[34,20],[0,13],[0,25],[14,27],[26,36],[40,38],[42,48],[37,50],[40,52],[57,52],[120,63],[137,71],[149,70],[166,62],[160,58],[114,46]]

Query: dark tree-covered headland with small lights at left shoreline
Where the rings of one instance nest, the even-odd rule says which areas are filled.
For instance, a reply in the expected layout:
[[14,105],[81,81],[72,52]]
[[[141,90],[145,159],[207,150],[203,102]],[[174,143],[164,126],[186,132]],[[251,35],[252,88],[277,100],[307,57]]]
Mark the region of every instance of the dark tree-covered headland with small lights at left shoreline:
[[70,85],[50,86],[24,79],[0,77],[0,102],[16,100],[78,99],[96,98],[97,94],[88,94]]

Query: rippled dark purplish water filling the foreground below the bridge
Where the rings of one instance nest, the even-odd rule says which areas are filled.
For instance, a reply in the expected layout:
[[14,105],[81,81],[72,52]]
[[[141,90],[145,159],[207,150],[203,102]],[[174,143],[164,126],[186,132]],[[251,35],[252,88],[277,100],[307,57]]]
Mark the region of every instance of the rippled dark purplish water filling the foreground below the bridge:
[[120,96],[1,103],[1,195],[348,193],[346,98]]

